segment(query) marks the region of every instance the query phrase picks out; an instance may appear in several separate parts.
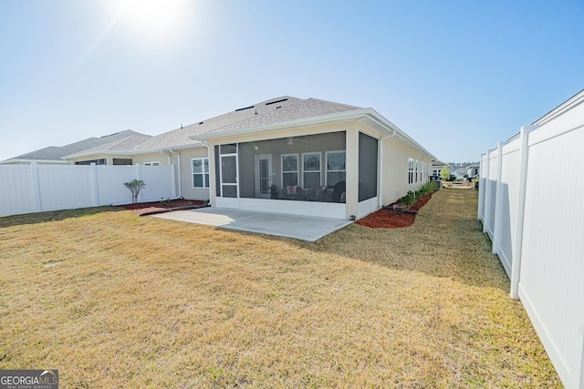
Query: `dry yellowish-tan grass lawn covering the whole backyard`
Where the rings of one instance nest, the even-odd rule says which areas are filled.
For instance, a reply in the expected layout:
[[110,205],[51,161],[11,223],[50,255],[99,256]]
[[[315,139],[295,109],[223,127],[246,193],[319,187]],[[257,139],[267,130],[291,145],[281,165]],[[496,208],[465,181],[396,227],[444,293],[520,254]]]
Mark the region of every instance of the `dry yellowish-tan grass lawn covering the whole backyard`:
[[126,210],[0,219],[0,369],[58,368],[63,387],[561,387],[475,210],[441,190],[412,227],[317,243]]

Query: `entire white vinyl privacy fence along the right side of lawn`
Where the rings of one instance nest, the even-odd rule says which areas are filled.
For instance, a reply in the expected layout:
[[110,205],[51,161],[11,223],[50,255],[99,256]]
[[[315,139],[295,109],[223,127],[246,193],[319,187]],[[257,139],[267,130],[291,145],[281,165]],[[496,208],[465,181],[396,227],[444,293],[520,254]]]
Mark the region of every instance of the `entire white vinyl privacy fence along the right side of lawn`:
[[584,388],[584,92],[481,158],[478,219],[567,388]]

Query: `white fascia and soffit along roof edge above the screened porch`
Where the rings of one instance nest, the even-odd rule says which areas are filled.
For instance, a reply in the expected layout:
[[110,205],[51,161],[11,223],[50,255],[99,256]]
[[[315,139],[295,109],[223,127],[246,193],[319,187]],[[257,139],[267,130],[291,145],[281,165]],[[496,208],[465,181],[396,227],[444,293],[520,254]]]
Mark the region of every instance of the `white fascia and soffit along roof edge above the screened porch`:
[[256,134],[262,132],[271,132],[271,131],[279,131],[285,130],[290,128],[297,128],[306,125],[315,125],[315,124],[327,124],[327,123],[335,123],[335,122],[344,122],[350,120],[358,120],[360,118],[370,117],[374,119],[374,121],[378,122],[382,128],[385,128],[388,132],[392,132],[394,128],[389,120],[386,118],[381,117],[380,114],[375,112],[375,110],[371,108],[360,108],[360,109],[353,109],[350,111],[333,113],[328,115],[322,115],[318,117],[310,117],[310,118],[297,118],[294,120],[287,120],[279,123],[271,123],[265,124],[255,127],[249,128],[236,128],[230,129],[226,131],[220,132],[209,132],[206,134],[201,135],[193,135],[189,137],[193,140],[209,140],[209,139],[220,139],[220,138],[229,138],[236,135],[247,135],[247,134]]

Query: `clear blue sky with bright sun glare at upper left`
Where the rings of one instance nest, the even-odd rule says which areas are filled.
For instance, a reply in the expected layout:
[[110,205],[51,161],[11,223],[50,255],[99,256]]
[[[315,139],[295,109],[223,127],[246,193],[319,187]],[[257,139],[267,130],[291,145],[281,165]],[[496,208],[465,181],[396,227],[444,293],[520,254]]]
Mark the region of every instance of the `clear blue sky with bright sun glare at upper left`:
[[272,97],[478,161],[584,88],[584,0],[0,0],[0,160]]

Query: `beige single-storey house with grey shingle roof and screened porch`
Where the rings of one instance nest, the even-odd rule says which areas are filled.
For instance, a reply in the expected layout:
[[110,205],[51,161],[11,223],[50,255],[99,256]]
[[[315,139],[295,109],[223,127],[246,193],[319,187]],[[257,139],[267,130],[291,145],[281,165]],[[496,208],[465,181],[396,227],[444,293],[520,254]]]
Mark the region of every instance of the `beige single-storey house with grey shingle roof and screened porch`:
[[186,199],[349,219],[422,187],[435,157],[372,108],[285,96],[63,159],[173,165]]

